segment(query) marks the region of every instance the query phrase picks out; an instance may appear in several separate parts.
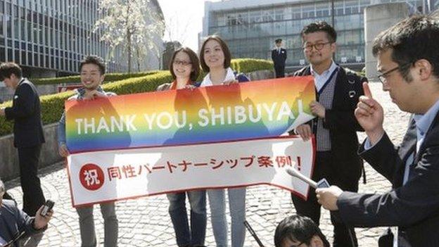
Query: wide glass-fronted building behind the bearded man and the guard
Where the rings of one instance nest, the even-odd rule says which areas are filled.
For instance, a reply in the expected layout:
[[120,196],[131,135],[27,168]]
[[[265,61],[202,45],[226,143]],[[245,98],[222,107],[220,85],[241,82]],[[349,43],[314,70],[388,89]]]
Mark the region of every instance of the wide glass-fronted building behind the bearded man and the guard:
[[[236,0],[235,0],[236,1]],[[231,1],[229,1],[231,2]],[[373,1],[387,3],[392,1]],[[393,1],[395,2],[395,1]],[[422,6],[422,0],[405,1]],[[255,4],[246,8],[221,8],[208,11],[205,34],[219,34],[229,45],[234,58],[271,59],[274,40],[284,40],[287,66],[305,64],[300,31],[316,20],[332,23],[331,1],[286,0],[281,4]],[[334,0],[334,23],[337,31],[336,62],[364,65],[364,7],[371,0]],[[206,25],[207,24],[207,25]]]

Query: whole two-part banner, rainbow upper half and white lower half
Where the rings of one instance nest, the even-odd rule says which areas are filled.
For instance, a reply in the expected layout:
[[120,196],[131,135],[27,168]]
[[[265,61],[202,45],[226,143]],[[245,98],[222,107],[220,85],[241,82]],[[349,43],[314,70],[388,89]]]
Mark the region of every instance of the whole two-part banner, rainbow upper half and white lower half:
[[272,184],[307,195],[313,77],[67,101],[74,206],[191,189]]

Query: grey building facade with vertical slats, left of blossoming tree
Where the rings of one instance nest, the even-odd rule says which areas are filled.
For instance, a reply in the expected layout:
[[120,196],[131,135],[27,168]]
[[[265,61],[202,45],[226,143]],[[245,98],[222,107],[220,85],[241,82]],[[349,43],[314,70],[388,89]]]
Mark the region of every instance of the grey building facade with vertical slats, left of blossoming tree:
[[[99,32],[91,32],[98,18],[98,0],[0,0],[0,61],[77,73],[84,55],[108,54]],[[125,61],[115,51],[108,71],[127,71]]]

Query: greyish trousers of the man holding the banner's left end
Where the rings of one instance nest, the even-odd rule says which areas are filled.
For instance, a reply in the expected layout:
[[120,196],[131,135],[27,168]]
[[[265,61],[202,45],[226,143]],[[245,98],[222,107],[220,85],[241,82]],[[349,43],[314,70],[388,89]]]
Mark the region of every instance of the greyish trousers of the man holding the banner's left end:
[[[115,203],[101,203],[101,213],[104,228],[104,247],[117,246],[117,217]],[[94,232],[93,205],[76,208],[79,215],[79,232],[81,232],[81,246],[95,247],[96,233]]]

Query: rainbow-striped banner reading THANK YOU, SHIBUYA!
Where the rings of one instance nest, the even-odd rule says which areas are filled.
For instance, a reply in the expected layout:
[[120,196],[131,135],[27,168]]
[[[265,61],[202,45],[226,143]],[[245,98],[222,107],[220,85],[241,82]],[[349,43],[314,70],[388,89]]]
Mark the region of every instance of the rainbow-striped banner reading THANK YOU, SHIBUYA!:
[[314,78],[66,101],[71,153],[278,137],[314,118]]

